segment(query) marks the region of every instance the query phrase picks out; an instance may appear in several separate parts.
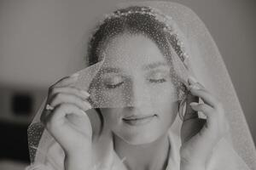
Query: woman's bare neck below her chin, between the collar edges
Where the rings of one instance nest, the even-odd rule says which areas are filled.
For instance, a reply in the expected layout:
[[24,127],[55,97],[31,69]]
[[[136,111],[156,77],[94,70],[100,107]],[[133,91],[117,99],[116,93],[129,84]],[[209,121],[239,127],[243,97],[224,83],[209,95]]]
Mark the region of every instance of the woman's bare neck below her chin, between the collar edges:
[[125,157],[125,166],[129,170],[166,169],[170,143],[168,134],[150,144],[128,144],[113,134],[113,147],[120,158]]

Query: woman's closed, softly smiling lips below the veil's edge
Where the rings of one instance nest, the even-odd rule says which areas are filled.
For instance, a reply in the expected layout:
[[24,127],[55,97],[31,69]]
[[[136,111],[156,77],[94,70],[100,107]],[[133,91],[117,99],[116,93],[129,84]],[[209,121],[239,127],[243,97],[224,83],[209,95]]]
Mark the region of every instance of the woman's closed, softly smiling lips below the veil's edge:
[[148,122],[151,122],[156,115],[151,116],[127,116],[123,118],[123,121],[131,126],[144,125]]

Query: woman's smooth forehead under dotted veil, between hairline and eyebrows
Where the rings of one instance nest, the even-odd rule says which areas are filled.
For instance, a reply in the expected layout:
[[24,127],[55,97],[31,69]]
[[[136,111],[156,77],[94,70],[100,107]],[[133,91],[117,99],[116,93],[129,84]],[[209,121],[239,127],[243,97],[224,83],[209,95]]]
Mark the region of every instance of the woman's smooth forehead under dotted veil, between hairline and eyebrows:
[[124,70],[166,60],[155,42],[143,34],[125,33],[113,37],[102,52],[105,55],[103,67],[118,67]]

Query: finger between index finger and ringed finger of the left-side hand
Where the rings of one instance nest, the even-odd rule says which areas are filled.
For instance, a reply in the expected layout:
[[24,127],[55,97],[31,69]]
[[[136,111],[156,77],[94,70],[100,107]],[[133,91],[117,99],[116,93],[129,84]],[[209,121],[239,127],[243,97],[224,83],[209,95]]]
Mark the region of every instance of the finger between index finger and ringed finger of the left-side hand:
[[78,88],[73,88],[73,87],[60,87],[60,88],[52,88],[49,94],[49,99],[52,98],[55,94],[73,94],[76,95],[77,97],[81,99],[88,99],[90,94],[84,90],[80,90]]

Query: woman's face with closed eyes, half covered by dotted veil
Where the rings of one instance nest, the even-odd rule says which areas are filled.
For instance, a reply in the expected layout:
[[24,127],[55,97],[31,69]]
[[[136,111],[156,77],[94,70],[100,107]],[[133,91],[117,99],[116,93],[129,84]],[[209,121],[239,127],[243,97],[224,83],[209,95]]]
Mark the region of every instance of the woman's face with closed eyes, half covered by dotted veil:
[[129,144],[166,134],[177,116],[177,90],[160,48],[142,34],[125,33],[111,38],[102,53],[102,93],[123,105],[101,108],[105,125]]

